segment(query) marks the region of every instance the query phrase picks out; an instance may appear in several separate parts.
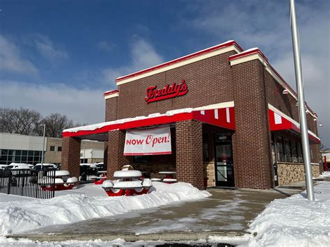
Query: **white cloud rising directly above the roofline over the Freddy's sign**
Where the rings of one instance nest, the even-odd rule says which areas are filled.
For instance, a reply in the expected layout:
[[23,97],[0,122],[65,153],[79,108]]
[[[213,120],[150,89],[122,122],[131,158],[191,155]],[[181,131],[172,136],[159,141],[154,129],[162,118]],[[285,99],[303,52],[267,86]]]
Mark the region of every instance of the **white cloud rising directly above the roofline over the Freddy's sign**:
[[130,74],[147,67],[163,63],[164,58],[157,54],[154,47],[139,37],[134,37],[131,50],[131,63],[127,66],[107,68],[102,70],[103,80],[107,83],[115,83],[116,78]]

